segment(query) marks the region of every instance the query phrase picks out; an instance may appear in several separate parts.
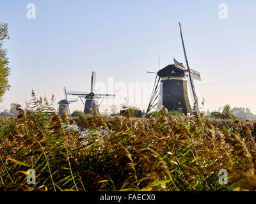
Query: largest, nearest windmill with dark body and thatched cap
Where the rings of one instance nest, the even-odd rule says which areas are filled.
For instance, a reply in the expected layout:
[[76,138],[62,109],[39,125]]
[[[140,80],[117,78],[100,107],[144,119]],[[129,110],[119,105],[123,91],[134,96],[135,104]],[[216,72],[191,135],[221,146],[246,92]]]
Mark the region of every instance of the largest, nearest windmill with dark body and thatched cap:
[[[187,68],[173,58],[174,64],[169,64],[165,68],[155,73],[156,78],[147,108],[147,113],[150,112],[152,108],[159,110],[163,105],[169,111],[175,110],[187,115],[191,112],[191,105],[188,97],[188,87],[193,106],[195,106],[196,110],[199,112],[198,99],[196,98],[193,80],[201,80],[201,77],[198,71],[189,68],[180,23],[179,26]],[[148,71],[147,73],[154,72]],[[157,98],[158,101],[156,102]]]

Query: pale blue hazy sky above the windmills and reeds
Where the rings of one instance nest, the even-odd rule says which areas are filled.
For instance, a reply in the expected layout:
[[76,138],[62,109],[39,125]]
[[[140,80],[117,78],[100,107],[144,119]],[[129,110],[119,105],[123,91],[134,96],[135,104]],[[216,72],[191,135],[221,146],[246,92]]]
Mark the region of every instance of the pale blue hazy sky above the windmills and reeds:
[[[29,3],[36,6],[35,19],[27,18]],[[228,18],[219,17],[221,3]],[[204,110],[229,103],[256,113],[255,10],[255,0],[0,0],[0,22],[10,28],[4,46],[12,70],[12,87],[0,106],[24,105],[31,89],[49,99],[54,94],[58,103],[64,86],[89,91],[91,71],[106,85],[108,77],[119,85],[152,83],[154,75],[146,71],[158,70],[158,55],[161,68],[173,64],[173,57],[184,62],[180,21],[189,64],[202,76],[195,88],[200,101],[205,98]],[[115,88],[105,92],[113,91],[120,94]],[[148,95],[135,105],[146,108]],[[129,97],[131,105],[136,97]],[[100,111],[122,101],[109,99]],[[83,109],[81,101],[70,105],[76,109]]]

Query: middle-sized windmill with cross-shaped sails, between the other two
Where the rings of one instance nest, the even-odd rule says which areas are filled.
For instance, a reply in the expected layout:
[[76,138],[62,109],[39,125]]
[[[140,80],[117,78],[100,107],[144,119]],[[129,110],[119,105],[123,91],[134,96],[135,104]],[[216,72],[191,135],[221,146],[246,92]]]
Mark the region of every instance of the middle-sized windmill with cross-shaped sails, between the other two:
[[[88,114],[92,110],[96,110],[99,113],[99,106],[102,103],[105,96],[115,96],[115,94],[95,94],[95,82],[96,82],[96,73],[92,71],[91,76],[91,89],[90,92],[79,92],[79,91],[67,91],[67,94],[78,96],[84,105],[84,113]],[[85,103],[82,98],[85,98]],[[98,104],[98,99],[102,98],[100,104]]]

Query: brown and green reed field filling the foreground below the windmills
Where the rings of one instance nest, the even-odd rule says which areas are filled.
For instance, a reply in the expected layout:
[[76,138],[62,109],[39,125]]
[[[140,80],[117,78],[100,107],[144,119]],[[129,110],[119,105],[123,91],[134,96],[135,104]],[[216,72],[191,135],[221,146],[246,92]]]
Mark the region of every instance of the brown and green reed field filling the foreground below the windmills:
[[[60,117],[33,99],[0,119],[0,191],[255,191],[256,122],[172,115]],[[35,170],[36,184],[27,184]],[[227,170],[228,183],[219,183]]]

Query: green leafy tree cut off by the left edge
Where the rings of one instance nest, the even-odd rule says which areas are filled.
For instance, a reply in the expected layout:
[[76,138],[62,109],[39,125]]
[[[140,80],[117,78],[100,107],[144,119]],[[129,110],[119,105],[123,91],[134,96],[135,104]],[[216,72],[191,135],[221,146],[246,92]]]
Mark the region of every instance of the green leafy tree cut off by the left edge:
[[8,25],[0,22],[0,101],[3,100],[3,95],[9,91],[8,76],[10,75],[9,61],[7,50],[3,48],[3,44],[9,39]]

